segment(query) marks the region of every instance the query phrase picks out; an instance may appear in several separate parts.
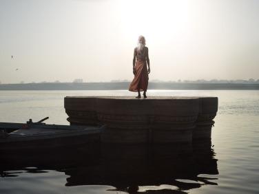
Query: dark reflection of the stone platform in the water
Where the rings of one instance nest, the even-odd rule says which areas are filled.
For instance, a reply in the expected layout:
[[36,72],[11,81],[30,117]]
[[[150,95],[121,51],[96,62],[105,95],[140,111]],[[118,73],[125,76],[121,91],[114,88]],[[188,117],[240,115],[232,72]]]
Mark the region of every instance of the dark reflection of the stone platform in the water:
[[186,190],[201,186],[198,182],[187,184],[178,179],[216,184],[209,178],[198,177],[199,174],[218,174],[217,160],[210,147],[210,141],[193,146],[103,144],[100,163],[80,170],[67,169],[65,174],[70,177],[66,185],[105,184],[123,191],[123,187],[128,186],[168,184]]

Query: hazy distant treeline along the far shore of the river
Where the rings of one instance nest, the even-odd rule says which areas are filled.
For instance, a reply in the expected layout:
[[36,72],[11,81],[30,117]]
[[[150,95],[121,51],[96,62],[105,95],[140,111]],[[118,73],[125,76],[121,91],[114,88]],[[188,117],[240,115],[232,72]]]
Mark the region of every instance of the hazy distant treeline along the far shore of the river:
[[[119,83],[23,83],[0,84],[0,90],[112,90],[128,89],[130,82]],[[240,83],[149,83],[148,89],[259,89],[259,84]]]

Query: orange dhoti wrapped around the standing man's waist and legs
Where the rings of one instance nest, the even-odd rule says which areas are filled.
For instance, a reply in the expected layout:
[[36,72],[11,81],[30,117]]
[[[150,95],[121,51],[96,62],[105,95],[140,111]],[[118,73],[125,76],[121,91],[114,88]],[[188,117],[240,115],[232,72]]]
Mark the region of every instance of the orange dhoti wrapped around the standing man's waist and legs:
[[146,61],[136,61],[135,76],[130,84],[130,91],[147,91],[148,73]]

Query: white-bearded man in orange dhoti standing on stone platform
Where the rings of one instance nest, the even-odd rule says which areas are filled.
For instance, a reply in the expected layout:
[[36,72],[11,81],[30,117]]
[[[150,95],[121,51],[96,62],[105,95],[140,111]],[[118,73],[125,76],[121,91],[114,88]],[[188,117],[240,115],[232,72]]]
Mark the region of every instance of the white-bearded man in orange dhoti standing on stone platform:
[[[148,66],[148,68],[147,68]],[[136,98],[141,98],[141,91],[144,98],[147,98],[148,74],[150,73],[148,47],[145,46],[145,37],[138,37],[138,47],[134,49],[133,74],[134,79],[130,84],[130,91],[138,91]]]

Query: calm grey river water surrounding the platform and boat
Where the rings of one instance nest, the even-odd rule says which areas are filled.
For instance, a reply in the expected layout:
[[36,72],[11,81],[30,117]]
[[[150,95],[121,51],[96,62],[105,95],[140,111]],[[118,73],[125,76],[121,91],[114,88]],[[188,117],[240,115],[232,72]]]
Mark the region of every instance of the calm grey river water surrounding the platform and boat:
[[[148,94],[218,96],[212,147],[105,147],[101,161],[99,153],[87,158],[83,149],[76,154],[73,149],[58,155],[21,153],[6,159],[12,165],[1,165],[0,193],[259,193],[259,91],[151,90]],[[65,96],[129,95],[134,94],[0,91],[0,122],[49,116],[49,124],[68,125]]]

